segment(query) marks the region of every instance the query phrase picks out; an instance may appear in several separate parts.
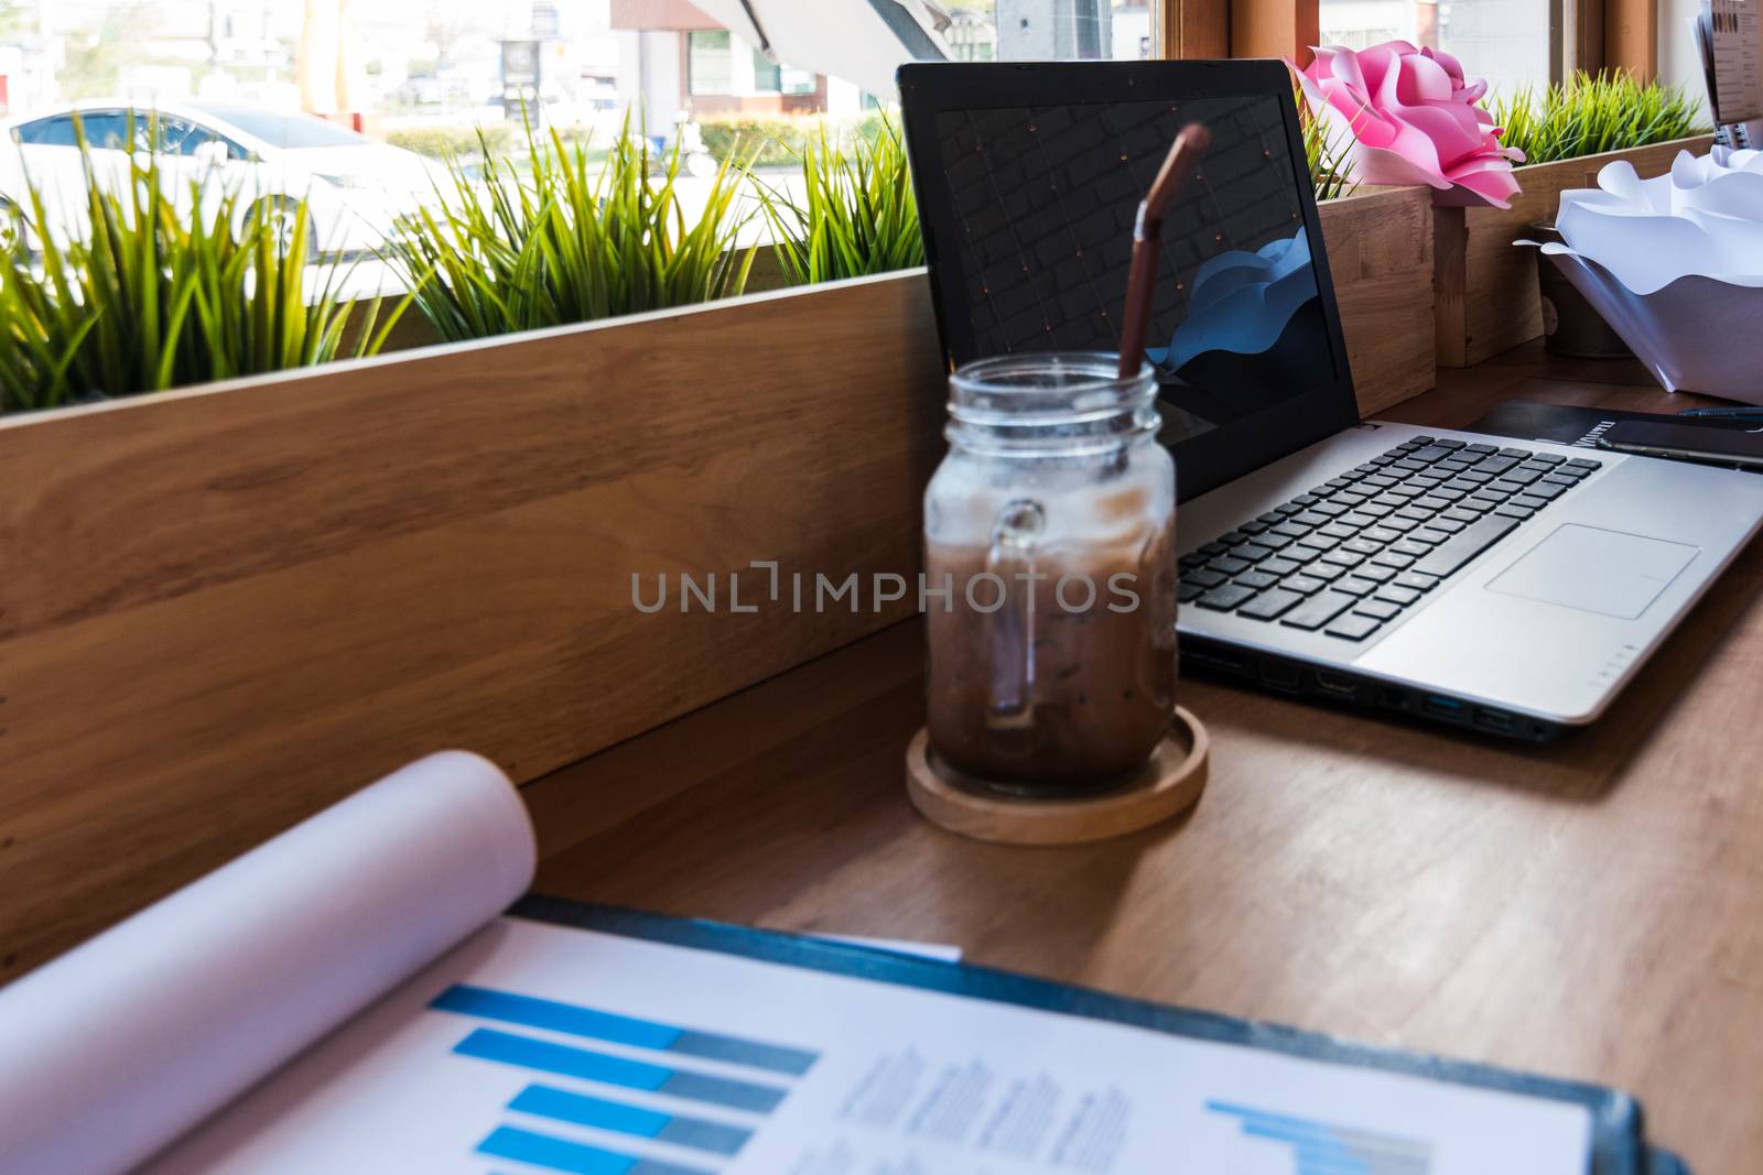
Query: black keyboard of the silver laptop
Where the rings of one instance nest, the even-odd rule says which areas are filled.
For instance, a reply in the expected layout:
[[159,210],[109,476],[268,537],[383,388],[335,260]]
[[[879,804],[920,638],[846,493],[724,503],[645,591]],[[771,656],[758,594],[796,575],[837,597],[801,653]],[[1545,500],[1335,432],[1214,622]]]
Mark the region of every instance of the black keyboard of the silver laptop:
[[1601,467],[1416,437],[1183,555],[1179,597],[1363,641]]

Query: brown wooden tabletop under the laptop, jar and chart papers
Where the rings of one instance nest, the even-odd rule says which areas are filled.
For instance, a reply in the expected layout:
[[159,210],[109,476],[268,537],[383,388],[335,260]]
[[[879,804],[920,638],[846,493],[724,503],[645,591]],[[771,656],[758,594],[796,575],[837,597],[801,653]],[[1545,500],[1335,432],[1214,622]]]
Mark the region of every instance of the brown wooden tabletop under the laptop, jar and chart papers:
[[[1386,418],[1513,398],[1671,410],[1537,344]],[[1763,544],[1608,717],[1509,745],[1185,678],[1213,735],[1183,821],[1070,849],[906,802],[917,622],[527,789],[538,891],[954,942],[1008,967],[1601,1082],[1698,1175],[1763,1170]]]

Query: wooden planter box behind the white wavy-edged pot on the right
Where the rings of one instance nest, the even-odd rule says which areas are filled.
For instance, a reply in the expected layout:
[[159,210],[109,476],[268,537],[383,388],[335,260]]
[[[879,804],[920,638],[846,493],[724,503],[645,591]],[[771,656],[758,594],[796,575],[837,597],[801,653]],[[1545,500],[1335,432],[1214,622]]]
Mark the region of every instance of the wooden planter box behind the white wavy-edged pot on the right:
[[1712,136],[1698,136],[1520,167],[1523,192],[1511,208],[1435,208],[1439,365],[1481,363],[1543,333],[1536,254],[1513,241],[1529,236],[1537,220],[1551,218],[1562,192],[1597,187],[1599,169],[1617,159],[1633,162],[1641,178],[1657,176],[1670,171],[1678,151],[1707,151],[1710,143]]

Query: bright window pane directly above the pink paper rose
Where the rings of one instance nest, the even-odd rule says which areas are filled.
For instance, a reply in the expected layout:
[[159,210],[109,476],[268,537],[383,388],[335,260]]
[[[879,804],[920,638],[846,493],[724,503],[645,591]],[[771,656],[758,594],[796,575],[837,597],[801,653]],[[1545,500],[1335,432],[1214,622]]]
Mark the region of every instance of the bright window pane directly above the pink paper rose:
[[1412,41],[1451,53],[1497,92],[1550,81],[1550,7],[1539,0],[1320,0],[1322,42]]

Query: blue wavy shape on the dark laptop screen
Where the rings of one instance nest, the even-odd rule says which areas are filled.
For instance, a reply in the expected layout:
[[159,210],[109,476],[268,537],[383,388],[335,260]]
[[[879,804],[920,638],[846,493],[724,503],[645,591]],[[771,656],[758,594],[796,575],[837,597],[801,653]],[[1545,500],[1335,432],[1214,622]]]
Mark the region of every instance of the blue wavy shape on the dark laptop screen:
[[1315,296],[1306,229],[1255,252],[1232,248],[1201,264],[1174,338],[1167,349],[1146,356],[1167,372],[1179,372],[1209,351],[1262,354],[1278,345],[1292,315]]

